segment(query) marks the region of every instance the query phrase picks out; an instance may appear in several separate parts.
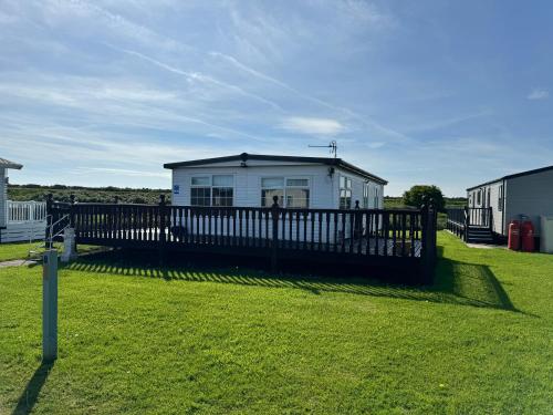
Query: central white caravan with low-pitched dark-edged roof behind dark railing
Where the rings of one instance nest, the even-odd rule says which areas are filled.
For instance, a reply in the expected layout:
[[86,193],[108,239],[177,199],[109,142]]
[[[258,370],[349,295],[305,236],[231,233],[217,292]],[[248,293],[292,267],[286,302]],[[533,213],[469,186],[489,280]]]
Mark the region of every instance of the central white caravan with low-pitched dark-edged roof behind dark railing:
[[[382,209],[387,184],[331,157],[242,153],[164,167],[173,170],[174,206],[271,207],[276,196],[279,206],[290,209],[353,209],[356,201],[359,208]],[[341,237],[347,238],[343,231]]]

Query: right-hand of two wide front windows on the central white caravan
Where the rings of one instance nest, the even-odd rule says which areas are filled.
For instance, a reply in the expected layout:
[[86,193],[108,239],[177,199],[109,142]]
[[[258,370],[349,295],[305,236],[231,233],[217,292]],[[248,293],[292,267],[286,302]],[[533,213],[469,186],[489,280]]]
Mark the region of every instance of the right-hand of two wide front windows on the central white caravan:
[[271,207],[273,197],[285,208],[309,208],[310,183],[307,178],[263,177],[261,178],[261,206]]

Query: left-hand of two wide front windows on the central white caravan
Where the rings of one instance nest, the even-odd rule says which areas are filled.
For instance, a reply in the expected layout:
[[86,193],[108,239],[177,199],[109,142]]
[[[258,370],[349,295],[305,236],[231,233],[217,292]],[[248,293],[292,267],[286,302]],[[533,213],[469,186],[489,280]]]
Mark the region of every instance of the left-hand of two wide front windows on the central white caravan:
[[231,175],[194,176],[191,178],[191,206],[232,206],[233,196],[233,177]]

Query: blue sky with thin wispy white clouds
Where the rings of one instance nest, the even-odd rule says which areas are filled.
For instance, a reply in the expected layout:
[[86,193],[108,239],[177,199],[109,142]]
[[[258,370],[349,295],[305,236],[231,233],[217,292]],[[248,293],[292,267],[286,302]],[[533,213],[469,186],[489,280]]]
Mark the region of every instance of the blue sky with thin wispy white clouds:
[[552,21],[551,1],[0,0],[0,157],[12,183],[169,187],[163,163],[335,139],[387,195],[463,195],[553,164]]

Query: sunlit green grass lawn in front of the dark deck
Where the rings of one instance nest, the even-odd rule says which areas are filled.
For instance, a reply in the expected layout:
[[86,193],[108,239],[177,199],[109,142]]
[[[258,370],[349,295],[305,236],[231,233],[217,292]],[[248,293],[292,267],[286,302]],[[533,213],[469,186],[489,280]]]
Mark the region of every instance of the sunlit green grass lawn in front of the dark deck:
[[417,289],[81,259],[41,366],[41,268],[0,269],[0,413],[551,414],[553,256],[440,232]]

